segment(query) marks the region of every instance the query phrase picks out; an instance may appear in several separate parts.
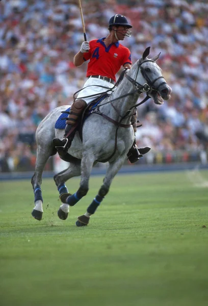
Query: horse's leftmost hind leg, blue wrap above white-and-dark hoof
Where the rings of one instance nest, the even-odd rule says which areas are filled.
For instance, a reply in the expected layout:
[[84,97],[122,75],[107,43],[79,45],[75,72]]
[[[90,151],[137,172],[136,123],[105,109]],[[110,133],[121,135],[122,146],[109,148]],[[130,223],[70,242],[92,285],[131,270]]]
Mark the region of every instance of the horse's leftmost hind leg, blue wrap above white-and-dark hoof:
[[32,211],[32,216],[37,220],[41,220],[43,215],[43,198],[41,191],[42,172],[50,156],[50,152],[50,148],[48,148],[48,150],[43,150],[40,146],[38,146],[35,173],[31,179],[31,184],[33,186],[35,195],[35,207]]

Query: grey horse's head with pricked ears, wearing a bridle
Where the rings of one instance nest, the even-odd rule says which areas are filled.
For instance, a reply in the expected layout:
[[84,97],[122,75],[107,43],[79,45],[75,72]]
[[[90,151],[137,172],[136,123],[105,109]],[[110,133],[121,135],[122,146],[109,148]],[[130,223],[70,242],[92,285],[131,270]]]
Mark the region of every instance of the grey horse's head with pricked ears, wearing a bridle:
[[142,58],[133,66],[132,83],[139,91],[146,92],[148,96],[153,98],[155,104],[163,104],[163,99],[168,100],[170,98],[171,88],[166,83],[162,70],[156,63],[160,54],[148,59],[149,50],[150,47],[147,47]]

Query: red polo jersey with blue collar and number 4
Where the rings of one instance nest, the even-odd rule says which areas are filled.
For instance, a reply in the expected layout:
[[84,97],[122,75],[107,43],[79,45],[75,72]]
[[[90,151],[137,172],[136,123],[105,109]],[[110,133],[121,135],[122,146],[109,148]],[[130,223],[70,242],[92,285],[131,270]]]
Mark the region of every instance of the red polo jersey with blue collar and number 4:
[[102,75],[116,81],[116,73],[124,64],[132,64],[131,53],[128,48],[119,42],[106,47],[103,42],[105,37],[90,41],[90,50],[84,54],[84,60],[89,61],[87,77],[90,75]]

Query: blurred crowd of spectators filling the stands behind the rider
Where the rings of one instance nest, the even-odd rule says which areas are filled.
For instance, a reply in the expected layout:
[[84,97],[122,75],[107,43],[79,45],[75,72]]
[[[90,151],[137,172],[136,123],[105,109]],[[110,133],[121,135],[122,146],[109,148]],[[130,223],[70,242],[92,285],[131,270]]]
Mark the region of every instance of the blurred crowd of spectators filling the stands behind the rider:
[[[178,151],[185,157],[198,152],[205,163],[207,1],[82,0],[82,8],[88,40],[107,36],[109,19],[118,13],[133,25],[122,42],[133,63],[147,46],[150,56],[161,52],[158,64],[172,97],[162,106],[148,100],[138,108],[137,143],[152,148],[149,162]],[[71,104],[86,81],[87,63],[73,65],[83,40],[77,0],[0,2],[0,171],[34,169],[38,124],[54,108]]]

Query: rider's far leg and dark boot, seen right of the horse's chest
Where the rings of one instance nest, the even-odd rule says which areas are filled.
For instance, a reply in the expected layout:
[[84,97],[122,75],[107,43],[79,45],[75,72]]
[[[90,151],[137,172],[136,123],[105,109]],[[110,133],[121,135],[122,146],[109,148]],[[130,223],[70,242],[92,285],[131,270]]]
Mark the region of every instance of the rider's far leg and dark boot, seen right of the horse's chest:
[[[132,116],[132,126],[133,126],[134,132],[136,134],[136,132],[137,132],[137,111]],[[131,162],[132,164],[137,162],[140,159],[140,157],[142,157],[144,154],[148,153],[150,149],[151,149],[150,147],[138,148],[138,146],[136,144],[136,137],[135,137],[133,145],[127,153],[127,157],[128,157],[129,162]]]

